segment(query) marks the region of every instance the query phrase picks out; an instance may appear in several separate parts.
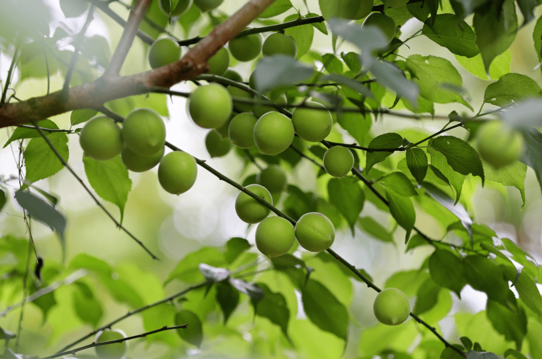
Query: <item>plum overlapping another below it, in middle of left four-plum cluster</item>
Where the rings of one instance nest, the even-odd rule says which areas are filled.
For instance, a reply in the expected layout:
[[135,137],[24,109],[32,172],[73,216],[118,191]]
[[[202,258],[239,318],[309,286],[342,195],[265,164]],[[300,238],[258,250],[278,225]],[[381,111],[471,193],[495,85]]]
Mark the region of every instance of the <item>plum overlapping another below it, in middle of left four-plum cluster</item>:
[[139,156],[156,155],[166,140],[164,120],[150,108],[137,108],[124,119],[122,138],[126,146]]

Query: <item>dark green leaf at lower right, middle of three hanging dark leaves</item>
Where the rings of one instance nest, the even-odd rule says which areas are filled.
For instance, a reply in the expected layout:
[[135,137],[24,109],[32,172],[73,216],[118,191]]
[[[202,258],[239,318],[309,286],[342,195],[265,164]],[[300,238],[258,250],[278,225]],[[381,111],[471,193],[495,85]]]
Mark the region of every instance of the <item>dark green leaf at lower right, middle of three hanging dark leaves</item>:
[[463,268],[467,284],[473,289],[487,294],[487,297],[506,304],[508,281],[504,273],[491,260],[480,255],[468,255],[463,258]]

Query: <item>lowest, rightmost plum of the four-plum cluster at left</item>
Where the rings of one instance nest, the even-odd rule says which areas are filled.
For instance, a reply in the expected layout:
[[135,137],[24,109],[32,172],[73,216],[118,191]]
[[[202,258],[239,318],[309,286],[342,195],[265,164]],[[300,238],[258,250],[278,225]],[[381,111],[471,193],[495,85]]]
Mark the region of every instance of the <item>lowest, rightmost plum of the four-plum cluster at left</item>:
[[196,182],[196,159],[186,152],[167,153],[158,166],[158,181],[162,188],[174,195],[188,191]]

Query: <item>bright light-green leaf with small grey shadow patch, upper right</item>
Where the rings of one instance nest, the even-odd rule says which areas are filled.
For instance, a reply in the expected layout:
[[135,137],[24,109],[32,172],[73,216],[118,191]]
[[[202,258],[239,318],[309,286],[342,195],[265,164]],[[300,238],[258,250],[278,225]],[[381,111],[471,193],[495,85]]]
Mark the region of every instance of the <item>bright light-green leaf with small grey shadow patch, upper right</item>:
[[406,59],[406,69],[412,74],[412,81],[418,84],[420,95],[437,104],[459,102],[473,108],[463,99],[463,80],[450,61],[436,56],[411,55]]

